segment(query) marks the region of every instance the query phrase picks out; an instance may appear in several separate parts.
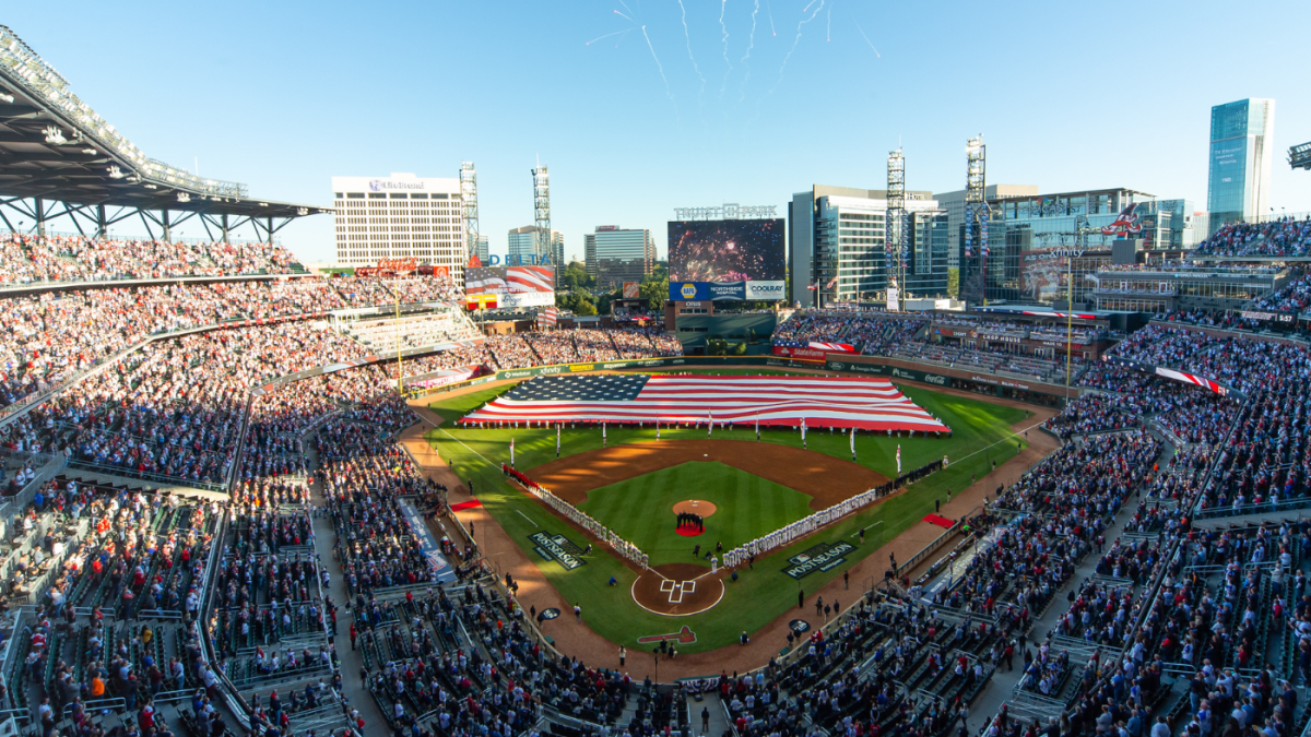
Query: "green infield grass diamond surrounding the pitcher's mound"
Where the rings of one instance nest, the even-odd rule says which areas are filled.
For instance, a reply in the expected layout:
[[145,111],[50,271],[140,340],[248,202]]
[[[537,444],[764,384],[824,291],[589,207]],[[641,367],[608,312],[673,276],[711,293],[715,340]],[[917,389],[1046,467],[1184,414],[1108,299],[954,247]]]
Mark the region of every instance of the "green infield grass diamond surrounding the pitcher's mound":
[[[674,530],[673,506],[684,500],[713,504],[705,534]],[[692,563],[692,546],[730,551],[810,514],[810,497],[716,462],[671,466],[587,492],[578,509],[600,519],[650,556],[652,565]],[[697,561],[709,567],[708,561]]]

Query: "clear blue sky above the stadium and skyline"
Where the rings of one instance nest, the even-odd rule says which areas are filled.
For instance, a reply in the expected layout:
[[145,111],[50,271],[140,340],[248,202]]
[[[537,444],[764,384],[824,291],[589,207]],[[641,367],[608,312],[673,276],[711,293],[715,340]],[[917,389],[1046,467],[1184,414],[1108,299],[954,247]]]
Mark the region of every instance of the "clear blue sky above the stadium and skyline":
[[[473,160],[494,253],[532,223],[539,155],[570,257],[598,224],[652,228],[663,256],[679,206],[781,216],[813,182],[882,189],[898,139],[910,189],[961,189],[979,132],[992,184],[1203,210],[1210,106],[1243,97],[1277,101],[1272,203],[1311,210],[1283,161],[1311,140],[1306,1],[683,5],[686,34],[678,0],[16,3],[0,22],[148,156],[256,197],[329,205],[334,174]],[[333,257],[326,215],[282,240]]]

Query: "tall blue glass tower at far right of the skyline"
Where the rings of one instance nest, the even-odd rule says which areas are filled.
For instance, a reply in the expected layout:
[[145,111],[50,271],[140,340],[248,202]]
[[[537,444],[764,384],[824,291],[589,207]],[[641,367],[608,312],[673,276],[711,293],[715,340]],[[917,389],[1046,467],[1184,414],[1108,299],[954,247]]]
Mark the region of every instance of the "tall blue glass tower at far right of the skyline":
[[1224,223],[1265,216],[1274,164],[1274,101],[1239,100],[1211,108],[1206,182],[1209,232]]

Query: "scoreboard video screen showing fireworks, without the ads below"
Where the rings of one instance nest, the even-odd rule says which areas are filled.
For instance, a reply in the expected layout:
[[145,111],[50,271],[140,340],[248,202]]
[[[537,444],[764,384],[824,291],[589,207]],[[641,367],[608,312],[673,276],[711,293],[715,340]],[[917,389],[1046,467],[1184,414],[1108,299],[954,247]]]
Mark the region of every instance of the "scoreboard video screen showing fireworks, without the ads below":
[[669,224],[673,282],[781,282],[787,268],[781,218]]

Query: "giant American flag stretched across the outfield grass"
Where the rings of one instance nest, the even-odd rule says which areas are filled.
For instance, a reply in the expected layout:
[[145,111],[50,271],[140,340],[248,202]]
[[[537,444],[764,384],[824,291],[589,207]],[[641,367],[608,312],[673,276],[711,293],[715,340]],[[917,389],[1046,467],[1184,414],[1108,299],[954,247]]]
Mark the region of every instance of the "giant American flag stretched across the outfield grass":
[[705,422],[920,430],[949,428],[885,379],[853,376],[543,376],[459,422]]

